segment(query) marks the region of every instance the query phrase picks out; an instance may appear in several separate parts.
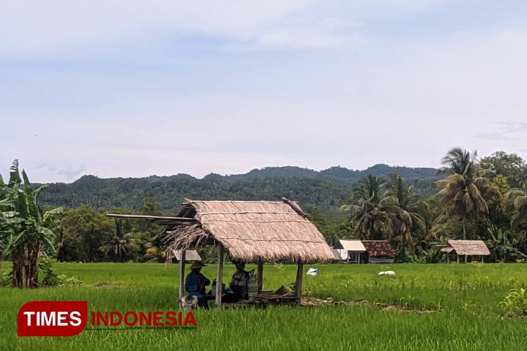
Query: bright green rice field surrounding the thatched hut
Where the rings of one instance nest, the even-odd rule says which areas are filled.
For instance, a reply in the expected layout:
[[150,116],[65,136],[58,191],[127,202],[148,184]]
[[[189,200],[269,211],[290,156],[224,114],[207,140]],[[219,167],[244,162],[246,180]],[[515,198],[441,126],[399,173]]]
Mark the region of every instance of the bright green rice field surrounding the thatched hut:
[[[527,265],[312,265],[311,296],[366,299],[432,314],[377,307],[270,307],[199,310],[197,329],[84,331],[72,338],[18,338],[16,314],[30,300],[88,300],[89,310],[177,310],[178,266],[136,263],[60,263],[80,287],[0,288],[0,350],[521,350],[527,320],[503,317],[498,306],[514,286],[527,285]],[[249,269],[253,266],[249,265]],[[308,265],[311,267],[311,265]],[[8,263],[2,270],[8,270]],[[391,269],[396,277],[377,277]],[[232,274],[226,266],[226,275]],[[215,266],[205,267],[213,278]],[[296,266],[265,265],[264,288],[294,282]],[[114,285],[100,286],[101,282]],[[465,306],[465,308],[463,308]],[[470,307],[467,307],[470,306]]]

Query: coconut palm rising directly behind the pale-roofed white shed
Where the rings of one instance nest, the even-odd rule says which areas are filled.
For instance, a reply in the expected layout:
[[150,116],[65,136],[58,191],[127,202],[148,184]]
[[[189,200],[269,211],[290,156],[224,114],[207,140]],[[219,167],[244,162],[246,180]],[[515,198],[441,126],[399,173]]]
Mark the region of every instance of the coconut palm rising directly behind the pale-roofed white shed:
[[341,210],[351,212],[351,221],[356,223],[358,233],[369,239],[382,239],[389,235],[393,223],[384,205],[386,180],[367,176],[358,181],[351,192],[351,204]]

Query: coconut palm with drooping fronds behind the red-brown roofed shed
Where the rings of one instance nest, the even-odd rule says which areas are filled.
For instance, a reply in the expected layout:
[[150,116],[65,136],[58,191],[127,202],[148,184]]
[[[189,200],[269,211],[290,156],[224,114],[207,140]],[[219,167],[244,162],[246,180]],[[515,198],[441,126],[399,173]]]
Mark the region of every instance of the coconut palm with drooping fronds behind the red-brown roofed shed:
[[383,199],[384,206],[388,206],[393,221],[393,229],[396,237],[401,240],[403,254],[410,246],[413,249],[413,235],[417,232],[425,234],[427,225],[424,213],[427,211],[427,203],[419,194],[415,193],[413,187],[406,185],[398,174],[392,174],[387,185],[386,198]]

